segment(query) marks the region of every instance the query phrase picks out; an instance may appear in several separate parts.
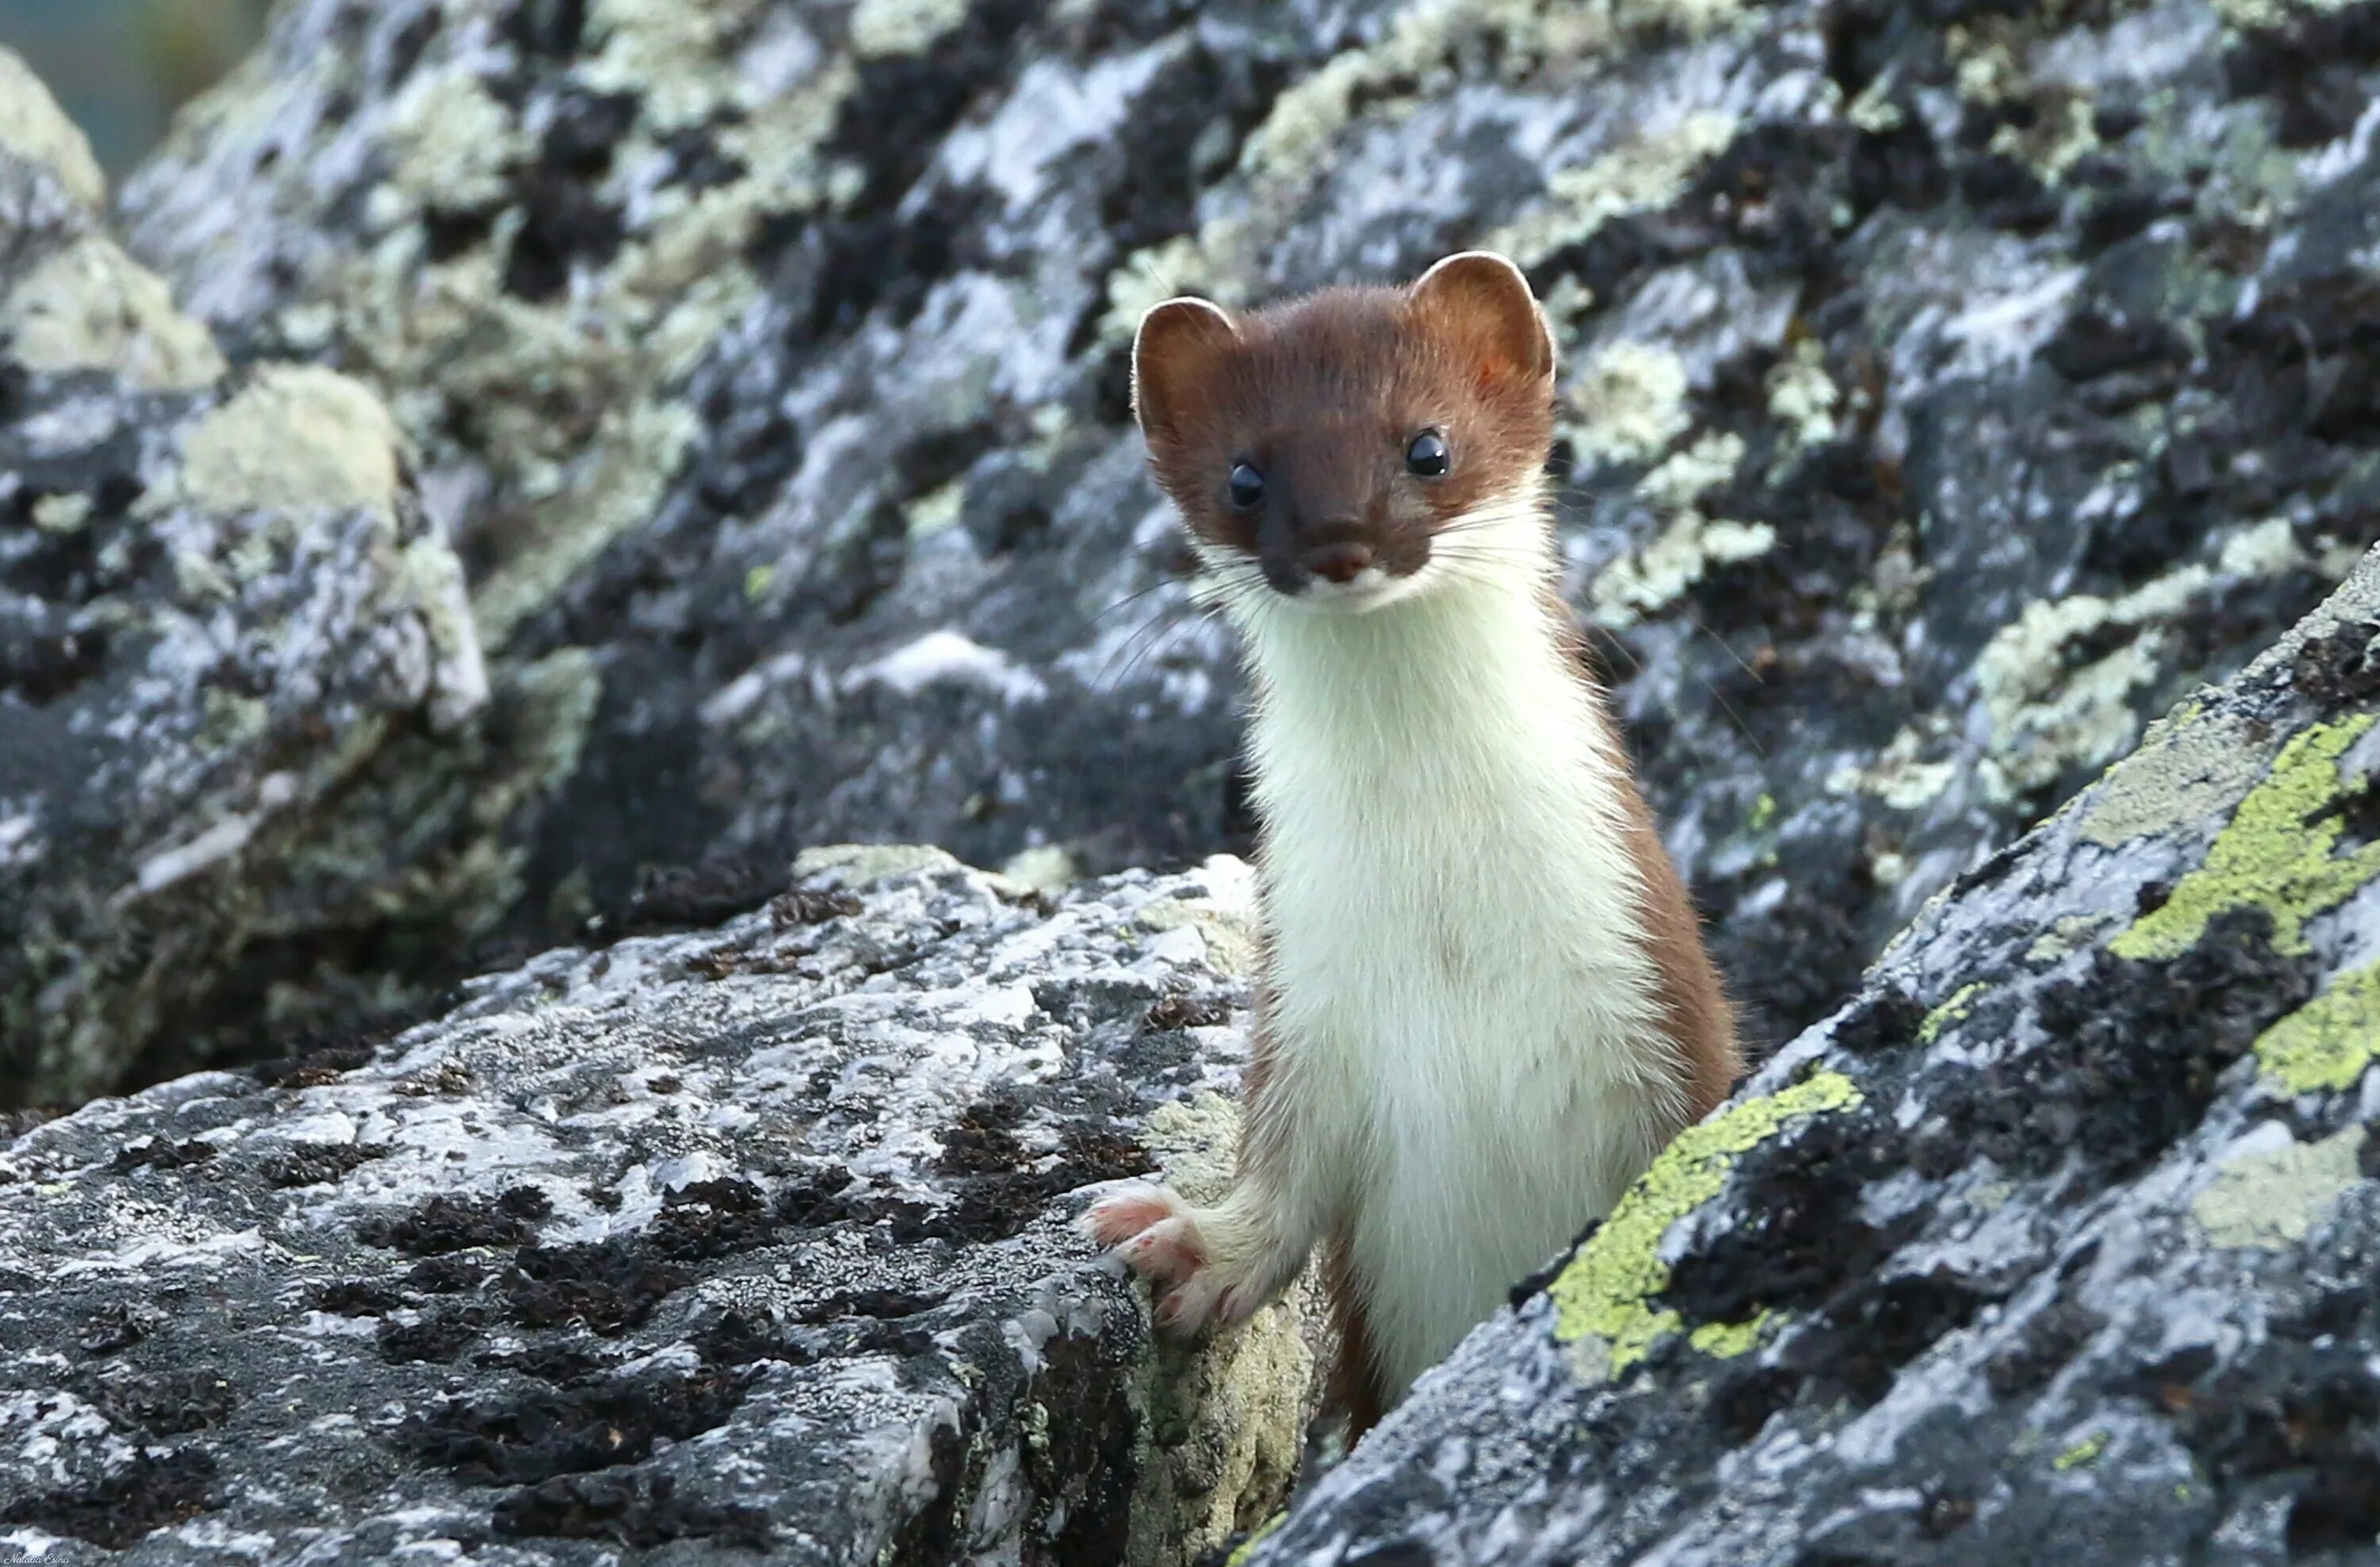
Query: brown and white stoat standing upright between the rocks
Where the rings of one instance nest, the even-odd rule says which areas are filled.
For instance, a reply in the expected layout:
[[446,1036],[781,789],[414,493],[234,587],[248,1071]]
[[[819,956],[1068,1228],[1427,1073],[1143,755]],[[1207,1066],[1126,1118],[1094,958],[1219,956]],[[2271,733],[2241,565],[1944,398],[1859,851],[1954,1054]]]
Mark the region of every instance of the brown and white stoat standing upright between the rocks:
[[1228,1196],[1085,1227],[1183,1334],[1323,1246],[1361,1431],[1726,1099],[1733,1015],[1557,597],[1521,271],[1169,300],[1133,409],[1252,678],[1264,963]]

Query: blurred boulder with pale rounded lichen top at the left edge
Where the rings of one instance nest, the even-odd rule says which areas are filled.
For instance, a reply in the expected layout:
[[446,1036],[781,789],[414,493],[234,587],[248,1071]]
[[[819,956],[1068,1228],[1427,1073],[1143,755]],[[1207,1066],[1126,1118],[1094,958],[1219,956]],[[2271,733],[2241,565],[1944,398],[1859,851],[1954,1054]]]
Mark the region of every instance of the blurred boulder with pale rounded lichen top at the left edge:
[[226,373],[95,181],[0,55],[0,1106],[202,1061],[217,1008],[262,1013],[267,975],[233,970],[383,892],[319,856],[345,792],[488,697],[378,397]]

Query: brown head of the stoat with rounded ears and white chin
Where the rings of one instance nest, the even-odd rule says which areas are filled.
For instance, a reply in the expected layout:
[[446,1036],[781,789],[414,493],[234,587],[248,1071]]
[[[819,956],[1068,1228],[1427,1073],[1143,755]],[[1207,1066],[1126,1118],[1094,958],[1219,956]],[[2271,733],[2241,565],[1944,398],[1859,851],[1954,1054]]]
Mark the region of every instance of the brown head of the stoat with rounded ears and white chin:
[[1540,568],[1554,338],[1499,254],[1252,314],[1166,300],[1133,414],[1207,573],[1247,592],[1373,609]]

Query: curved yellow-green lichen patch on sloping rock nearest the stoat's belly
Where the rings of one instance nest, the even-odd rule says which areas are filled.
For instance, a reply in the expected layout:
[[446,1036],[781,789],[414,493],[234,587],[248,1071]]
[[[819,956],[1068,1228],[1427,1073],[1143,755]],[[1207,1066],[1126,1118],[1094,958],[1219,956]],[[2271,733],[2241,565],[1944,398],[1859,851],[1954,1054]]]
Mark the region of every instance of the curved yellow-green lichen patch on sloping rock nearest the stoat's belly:
[[[1680,1132],[1547,1286],[1554,1339],[1599,1341],[1614,1377],[1642,1360],[1659,1339],[1683,1327],[1676,1310],[1654,1305],[1654,1296],[1668,1289],[1668,1263],[1661,1260],[1668,1227],[1718,1196],[1740,1153],[1795,1120],[1847,1110],[1859,1101],[1859,1084],[1823,1070],[1764,1099],[1733,1103]],[[1716,1336],[1721,1346],[1735,1346],[1745,1332],[1728,1324]]]

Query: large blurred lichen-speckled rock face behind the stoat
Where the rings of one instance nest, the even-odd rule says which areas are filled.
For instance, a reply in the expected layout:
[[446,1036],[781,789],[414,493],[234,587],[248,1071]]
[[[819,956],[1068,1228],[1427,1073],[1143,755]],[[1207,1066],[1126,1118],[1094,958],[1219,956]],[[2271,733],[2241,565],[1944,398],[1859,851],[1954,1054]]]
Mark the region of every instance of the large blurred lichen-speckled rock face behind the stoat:
[[2370,2],[302,0],[126,214],[233,357],[383,390],[500,671],[583,659],[583,744],[440,816],[445,906],[550,932],[745,849],[1235,842],[1133,314],[1511,250],[1773,1041],[2370,535],[2375,67]]

